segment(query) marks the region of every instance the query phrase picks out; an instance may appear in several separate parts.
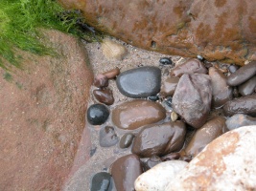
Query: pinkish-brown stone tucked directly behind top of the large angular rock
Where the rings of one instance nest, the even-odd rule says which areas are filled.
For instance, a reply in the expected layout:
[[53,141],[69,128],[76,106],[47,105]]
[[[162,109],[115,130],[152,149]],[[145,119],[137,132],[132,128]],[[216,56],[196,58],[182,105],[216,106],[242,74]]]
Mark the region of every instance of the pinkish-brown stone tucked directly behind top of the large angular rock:
[[192,58],[176,66],[170,74],[180,77],[182,74],[207,74],[207,70],[198,59]]

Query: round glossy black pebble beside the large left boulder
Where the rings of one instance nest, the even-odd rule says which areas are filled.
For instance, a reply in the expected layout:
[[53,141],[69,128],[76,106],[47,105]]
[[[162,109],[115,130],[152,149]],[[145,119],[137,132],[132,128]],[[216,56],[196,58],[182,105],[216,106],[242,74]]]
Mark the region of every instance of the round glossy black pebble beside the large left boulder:
[[103,104],[93,104],[87,110],[87,120],[92,125],[101,125],[105,123],[108,116],[109,111]]

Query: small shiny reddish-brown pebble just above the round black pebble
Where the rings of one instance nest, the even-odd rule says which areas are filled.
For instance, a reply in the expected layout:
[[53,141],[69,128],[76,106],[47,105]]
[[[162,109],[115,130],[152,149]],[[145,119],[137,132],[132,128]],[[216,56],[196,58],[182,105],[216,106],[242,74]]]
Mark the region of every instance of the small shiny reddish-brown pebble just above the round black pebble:
[[114,103],[114,96],[110,89],[94,90],[92,93],[99,102],[105,103],[105,105],[112,105]]

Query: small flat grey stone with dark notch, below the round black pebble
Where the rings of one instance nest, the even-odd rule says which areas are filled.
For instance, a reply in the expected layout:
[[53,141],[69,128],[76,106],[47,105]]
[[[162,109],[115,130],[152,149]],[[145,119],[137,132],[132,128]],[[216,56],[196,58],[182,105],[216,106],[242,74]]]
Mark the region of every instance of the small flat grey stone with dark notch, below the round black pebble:
[[102,147],[110,147],[115,145],[119,141],[119,138],[113,127],[105,126],[100,130],[99,140]]

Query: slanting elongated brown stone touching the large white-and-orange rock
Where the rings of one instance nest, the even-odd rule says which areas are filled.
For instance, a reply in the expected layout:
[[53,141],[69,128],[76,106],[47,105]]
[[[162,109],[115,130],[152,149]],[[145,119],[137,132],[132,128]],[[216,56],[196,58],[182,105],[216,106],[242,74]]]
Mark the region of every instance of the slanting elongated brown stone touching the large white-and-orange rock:
[[207,144],[221,136],[225,131],[224,117],[214,117],[207,121],[193,135],[185,148],[185,154],[192,159],[195,158]]

